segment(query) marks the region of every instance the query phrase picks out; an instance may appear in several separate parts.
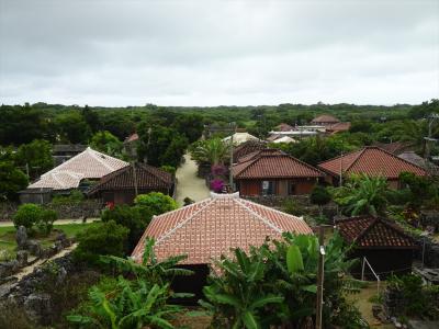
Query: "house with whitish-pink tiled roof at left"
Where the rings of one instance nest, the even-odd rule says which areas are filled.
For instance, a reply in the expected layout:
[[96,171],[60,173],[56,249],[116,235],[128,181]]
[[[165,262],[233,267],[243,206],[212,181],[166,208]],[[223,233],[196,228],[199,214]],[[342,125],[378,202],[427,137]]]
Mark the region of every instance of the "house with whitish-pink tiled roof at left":
[[38,191],[42,193],[44,191],[45,195],[48,190],[52,193],[69,193],[72,189],[86,191],[89,188],[88,181],[97,181],[126,166],[128,163],[125,161],[88,147],[79,155],[42,174],[36,182],[21,192],[20,198],[23,202],[41,203],[42,200],[47,200],[47,197],[43,198]]

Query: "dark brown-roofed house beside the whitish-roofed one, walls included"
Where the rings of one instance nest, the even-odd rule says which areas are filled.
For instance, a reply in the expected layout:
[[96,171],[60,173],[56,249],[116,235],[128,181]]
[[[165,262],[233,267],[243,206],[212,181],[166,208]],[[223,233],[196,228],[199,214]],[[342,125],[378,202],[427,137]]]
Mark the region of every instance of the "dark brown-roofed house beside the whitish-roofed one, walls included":
[[161,192],[172,196],[173,191],[172,174],[146,163],[135,163],[101,178],[88,195],[105,203],[132,204],[136,194]]

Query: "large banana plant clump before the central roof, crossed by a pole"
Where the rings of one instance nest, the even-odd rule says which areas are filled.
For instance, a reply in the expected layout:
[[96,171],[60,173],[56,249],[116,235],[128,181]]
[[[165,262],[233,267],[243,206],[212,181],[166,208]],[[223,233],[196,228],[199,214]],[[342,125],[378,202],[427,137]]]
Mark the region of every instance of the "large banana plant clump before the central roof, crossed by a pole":
[[[271,325],[301,328],[315,315],[318,242],[313,236],[285,234],[282,241],[267,241],[249,253],[240,249],[234,258],[216,263],[218,274],[204,287],[207,300],[201,304],[214,315],[221,328],[269,328]],[[363,328],[358,311],[344,297],[352,287],[346,274],[347,261],[341,239],[334,237],[326,247],[324,327]],[[347,314],[356,315],[344,318]]]

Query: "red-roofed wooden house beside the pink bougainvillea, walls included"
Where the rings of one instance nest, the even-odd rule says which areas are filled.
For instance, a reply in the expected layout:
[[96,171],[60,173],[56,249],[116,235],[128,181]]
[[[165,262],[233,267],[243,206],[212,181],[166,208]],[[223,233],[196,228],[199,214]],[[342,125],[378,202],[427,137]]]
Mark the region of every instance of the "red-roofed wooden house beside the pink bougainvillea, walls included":
[[293,195],[311,193],[323,172],[278,149],[255,151],[232,167],[241,195]]

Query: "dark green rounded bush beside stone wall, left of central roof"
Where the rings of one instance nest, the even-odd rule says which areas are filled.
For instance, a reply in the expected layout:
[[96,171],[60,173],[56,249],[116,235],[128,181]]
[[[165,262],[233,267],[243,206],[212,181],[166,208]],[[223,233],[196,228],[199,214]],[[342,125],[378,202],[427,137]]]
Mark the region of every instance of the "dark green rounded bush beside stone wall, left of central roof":
[[78,247],[74,251],[75,260],[97,264],[99,256],[122,257],[127,249],[128,231],[114,220],[93,225],[78,234]]

